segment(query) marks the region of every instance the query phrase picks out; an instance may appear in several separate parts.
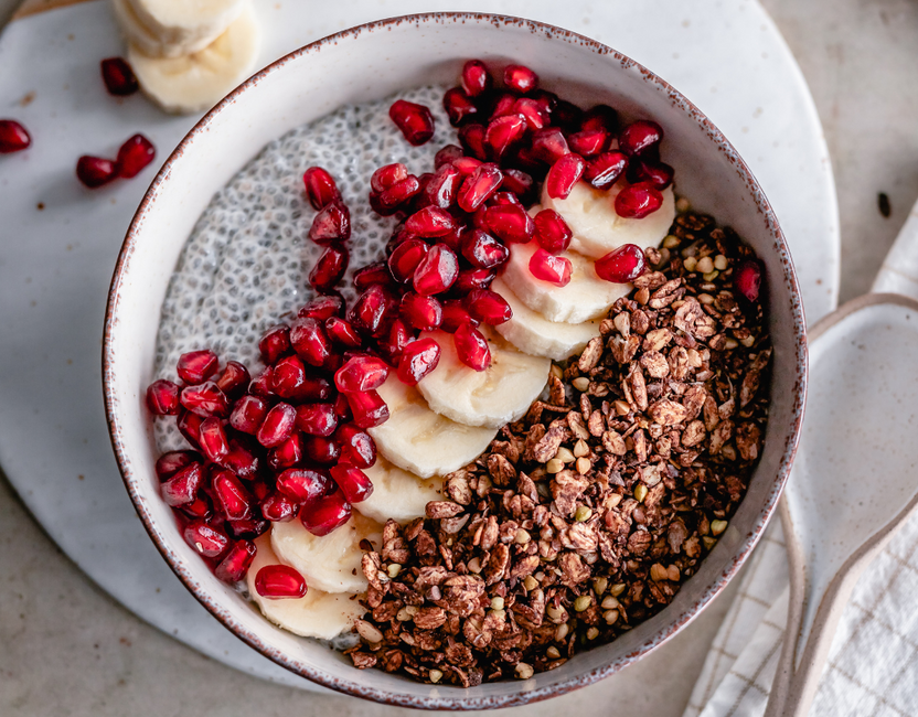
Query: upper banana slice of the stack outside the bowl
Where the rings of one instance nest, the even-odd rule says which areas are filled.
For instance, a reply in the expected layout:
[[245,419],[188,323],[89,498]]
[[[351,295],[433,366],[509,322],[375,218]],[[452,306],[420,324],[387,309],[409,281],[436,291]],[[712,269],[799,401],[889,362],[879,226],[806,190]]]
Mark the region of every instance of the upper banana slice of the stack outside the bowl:
[[[210,45],[242,14],[246,0],[126,0],[138,23],[167,51]],[[154,55],[168,57],[168,54]],[[175,55],[171,55],[175,56]]]

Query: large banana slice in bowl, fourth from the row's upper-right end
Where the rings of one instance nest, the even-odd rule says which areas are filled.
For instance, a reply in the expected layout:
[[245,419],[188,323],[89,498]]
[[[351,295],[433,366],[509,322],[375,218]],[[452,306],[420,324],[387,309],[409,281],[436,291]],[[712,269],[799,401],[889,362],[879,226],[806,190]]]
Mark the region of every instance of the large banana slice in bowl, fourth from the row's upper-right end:
[[552,362],[516,351],[487,327],[480,330],[491,349],[489,368],[469,368],[459,361],[452,336],[435,331],[430,336],[440,344],[440,363],[417,387],[438,414],[467,426],[500,428],[520,418],[538,397]]

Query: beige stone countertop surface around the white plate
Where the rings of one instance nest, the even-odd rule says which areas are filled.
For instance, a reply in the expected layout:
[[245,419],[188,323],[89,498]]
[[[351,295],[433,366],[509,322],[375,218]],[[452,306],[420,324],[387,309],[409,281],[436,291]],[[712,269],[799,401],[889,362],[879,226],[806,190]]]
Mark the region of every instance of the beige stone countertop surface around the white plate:
[[[762,1],[803,69],[825,128],[839,192],[844,301],[869,288],[918,199],[918,3]],[[0,0],[0,26],[19,3]],[[888,217],[878,210],[880,192],[889,197]],[[4,717],[407,714],[258,681],[150,628],[61,554],[2,474],[0,576]],[[618,705],[631,714],[681,715],[704,657],[697,644],[713,636],[727,599],[716,600],[664,649],[604,683],[504,711],[541,717],[576,710],[586,717],[611,714]]]

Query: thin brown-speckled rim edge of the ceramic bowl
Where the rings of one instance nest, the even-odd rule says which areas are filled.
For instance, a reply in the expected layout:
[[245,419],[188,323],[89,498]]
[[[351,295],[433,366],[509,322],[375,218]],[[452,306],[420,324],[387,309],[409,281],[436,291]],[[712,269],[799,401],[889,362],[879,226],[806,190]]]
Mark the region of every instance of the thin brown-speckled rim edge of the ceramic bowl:
[[[677,109],[687,114],[700,128],[708,136],[708,138],[724,152],[730,160],[737,173],[745,180],[746,185],[752,195],[756,210],[764,216],[768,232],[775,243],[775,249],[781,261],[783,269],[782,279],[790,289],[791,299],[791,314],[793,318],[793,338],[794,338],[794,365],[797,370],[796,386],[797,396],[793,400],[791,409],[791,421],[789,426],[789,436],[784,442],[781,452],[778,472],[775,475],[771,488],[767,494],[766,501],[762,504],[755,524],[750,532],[748,532],[738,543],[735,554],[727,564],[727,567],[717,576],[714,582],[707,586],[706,590],[694,600],[686,609],[679,616],[674,617],[664,629],[647,638],[637,649],[618,660],[607,663],[600,667],[594,668],[585,674],[572,676],[563,682],[537,687],[530,691],[524,691],[522,687],[525,684],[520,682],[521,689],[513,694],[491,697],[463,697],[442,696],[442,695],[427,695],[413,696],[407,693],[394,693],[376,687],[369,687],[360,684],[357,679],[339,679],[334,677],[327,677],[321,671],[314,670],[309,665],[305,665],[299,661],[290,660],[277,650],[264,644],[260,638],[239,625],[233,624],[228,616],[224,614],[214,599],[202,586],[194,581],[191,575],[180,566],[178,557],[170,552],[166,544],[166,539],[160,534],[158,525],[147,511],[143,502],[138,499],[136,489],[136,479],[131,470],[131,462],[127,456],[120,440],[120,429],[118,419],[118,403],[111,388],[110,378],[114,375],[113,366],[115,357],[111,352],[111,332],[118,322],[117,310],[119,303],[119,289],[122,278],[122,272],[128,264],[128,259],[132,254],[136,235],[140,231],[143,217],[153,203],[158,190],[163,184],[172,171],[173,162],[180,158],[184,150],[194,141],[195,137],[204,132],[211,121],[223,111],[235,104],[237,97],[249,87],[257,85],[263,78],[269,74],[279,71],[288,62],[300,57],[307,53],[320,51],[327,45],[335,45],[340,41],[355,40],[364,33],[374,32],[376,30],[391,29],[394,25],[403,23],[409,24],[447,24],[447,23],[490,23],[498,26],[515,26],[529,30],[533,33],[547,35],[552,40],[559,40],[569,44],[578,45],[579,47],[590,51],[600,56],[610,56],[622,66],[622,68],[633,68],[641,77],[657,85],[664,92],[677,106]],[[194,127],[182,138],[181,142],[170,153],[169,158],[160,168],[150,186],[143,194],[131,223],[125,235],[125,240],[118,254],[118,259],[113,274],[111,283],[109,287],[108,299],[105,311],[105,325],[103,333],[103,352],[102,352],[102,372],[103,372],[103,394],[105,404],[106,422],[108,426],[109,439],[115,452],[118,463],[118,470],[121,473],[121,479],[134,503],[143,527],[153,541],[157,549],[168,563],[169,567],[177,575],[177,577],[184,584],[185,588],[198,599],[198,601],[225,628],[227,628],[239,640],[248,644],[250,648],[259,652],[261,655],[268,657],[273,662],[290,670],[311,682],[322,685],[324,687],[334,689],[337,692],[361,697],[372,702],[399,707],[412,707],[420,709],[437,709],[437,710],[471,710],[471,709],[495,709],[504,707],[515,707],[527,705],[551,697],[557,697],[574,689],[585,687],[594,684],[611,674],[619,672],[628,665],[637,662],[639,659],[655,650],[663,643],[674,638],[683,628],[685,628],[692,620],[694,620],[701,611],[726,587],[729,580],[737,574],[739,568],[745,564],[752,548],[757,545],[759,538],[762,536],[770,518],[776,512],[778,500],[781,496],[783,486],[787,483],[790,474],[790,469],[797,453],[798,442],[800,439],[801,426],[803,420],[803,409],[807,397],[808,383],[808,344],[807,344],[807,324],[803,313],[803,306],[801,300],[800,286],[797,278],[797,272],[793,268],[790,250],[787,245],[783,232],[778,223],[770,202],[765,195],[761,186],[756,180],[745,160],[739,156],[734,146],[727,140],[724,133],[698,109],[691,100],[688,100],[681,92],[670,85],[662,77],[651,72],[640,63],[631,60],[623,53],[604,44],[586,35],[564,30],[549,23],[529,20],[515,15],[480,13],[480,12],[425,12],[413,13],[405,15],[396,15],[383,20],[371,21],[342,30],[321,38],[314,42],[303,45],[275,62],[268,64],[252,77],[243,82],[238,87],[232,90],[226,97],[217,103],[211,110],[209,110]],[[203,564],[202,564],[203,565]],[[357,673],[359,674],[359,673]],[[457,688],[459,692],[460,688]]]

